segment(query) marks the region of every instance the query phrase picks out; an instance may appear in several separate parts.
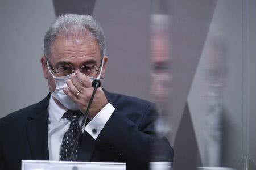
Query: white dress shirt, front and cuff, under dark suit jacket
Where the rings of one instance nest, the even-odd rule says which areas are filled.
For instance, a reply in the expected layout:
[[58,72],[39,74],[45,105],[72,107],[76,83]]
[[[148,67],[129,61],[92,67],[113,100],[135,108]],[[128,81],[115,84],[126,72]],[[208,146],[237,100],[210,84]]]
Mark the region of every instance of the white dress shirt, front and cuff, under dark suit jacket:
[[[109,117],[114,112],[115,108],[108,103],[100,112],[85,126],[86,130],[95,140],[104,128]],[[67,118],[62,118],[67,109],[59,107],[50,97],[48,107],[48,147],[49,160],[60,160],[60,147],[65,132],[69,128],[70,121]],[[82,124],[82,116],[79,118],[79,124]]]

